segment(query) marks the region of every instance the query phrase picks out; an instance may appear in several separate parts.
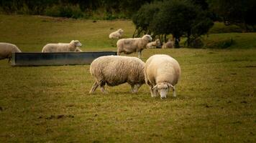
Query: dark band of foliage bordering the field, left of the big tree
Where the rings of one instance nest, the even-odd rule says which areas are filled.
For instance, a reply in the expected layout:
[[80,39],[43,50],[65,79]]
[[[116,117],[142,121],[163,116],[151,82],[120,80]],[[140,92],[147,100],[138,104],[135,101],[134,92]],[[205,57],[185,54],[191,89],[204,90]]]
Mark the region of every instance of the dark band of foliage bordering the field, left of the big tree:
[[142,4],[150,1],[153,0],[0,0],[0,12],[72,17],[99,11],[107,16],[122,14],[122,18],[130,18]]

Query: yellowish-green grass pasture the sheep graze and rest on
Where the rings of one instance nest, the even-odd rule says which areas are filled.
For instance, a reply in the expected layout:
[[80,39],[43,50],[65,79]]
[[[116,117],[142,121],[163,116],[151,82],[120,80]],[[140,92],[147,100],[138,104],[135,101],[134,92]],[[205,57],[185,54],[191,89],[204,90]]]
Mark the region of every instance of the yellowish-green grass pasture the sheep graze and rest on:
[[[108,34],[120,27],[125,37],[134,31],[132,21],[0,15],[0,41],[40,51],[78,39],[83,51],[113,51]],[[1,60],[0,142],[256,142],[256,34],[205,39],[230,37],[229,49],[142,51],[143,61],[169,54],[180,63],[178,97],[164,100],[146,85],[137,94],[127,84],[88,94],[89,65],[12,67]]]

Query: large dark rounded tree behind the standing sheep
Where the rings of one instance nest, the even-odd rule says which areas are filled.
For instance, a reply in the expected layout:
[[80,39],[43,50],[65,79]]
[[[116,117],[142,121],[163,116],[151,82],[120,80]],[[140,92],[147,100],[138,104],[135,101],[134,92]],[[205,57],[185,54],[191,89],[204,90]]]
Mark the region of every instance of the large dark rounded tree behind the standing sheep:
[[145,4],[135,14],[134,24],[144,33],[160,37],[166,41],[166,36],[172,34],[175,47],[179,47],[181,36],[187,37],[187,46],[213,26],[209,12],[193,1],[171,0],[163,3]]

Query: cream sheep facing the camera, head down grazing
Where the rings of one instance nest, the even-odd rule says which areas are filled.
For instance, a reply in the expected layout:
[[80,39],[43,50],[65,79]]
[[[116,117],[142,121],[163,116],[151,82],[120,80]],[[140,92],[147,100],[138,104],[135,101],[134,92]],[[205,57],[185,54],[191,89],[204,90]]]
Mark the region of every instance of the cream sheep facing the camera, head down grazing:
[[178,61],[166,54],[155,54],[147,59],[144,72],[152,97],[156,97],[159,92],[161,99],[166,98],[170,88],[173,89],[173,97],[176,97],[175,84],[180,78]]

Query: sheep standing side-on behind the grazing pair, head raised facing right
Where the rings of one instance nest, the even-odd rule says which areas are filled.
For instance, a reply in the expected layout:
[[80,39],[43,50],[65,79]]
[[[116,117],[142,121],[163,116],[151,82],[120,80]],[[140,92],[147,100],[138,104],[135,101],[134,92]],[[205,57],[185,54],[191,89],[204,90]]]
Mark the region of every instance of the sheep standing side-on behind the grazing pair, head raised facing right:
[[122,52],[124,54],[132,54],[137,51],[138,57],[141,58],[142,50],[146,48],[147,43],[150,41],[152,41],[152,37],[147,34],[142,36],[142,38],[119,39],[116,42],[117,55],[120,55]]

